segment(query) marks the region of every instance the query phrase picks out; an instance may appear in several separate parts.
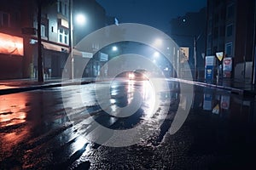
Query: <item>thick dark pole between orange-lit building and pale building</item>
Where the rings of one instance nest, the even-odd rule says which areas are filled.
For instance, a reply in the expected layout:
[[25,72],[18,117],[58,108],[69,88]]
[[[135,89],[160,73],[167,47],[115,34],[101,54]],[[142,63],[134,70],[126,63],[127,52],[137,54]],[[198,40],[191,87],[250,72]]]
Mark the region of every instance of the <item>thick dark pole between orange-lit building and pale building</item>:
[[43,59],[42,59],[41,19],[42,19],[42,0],[38,0],[38,82],[44,82]]

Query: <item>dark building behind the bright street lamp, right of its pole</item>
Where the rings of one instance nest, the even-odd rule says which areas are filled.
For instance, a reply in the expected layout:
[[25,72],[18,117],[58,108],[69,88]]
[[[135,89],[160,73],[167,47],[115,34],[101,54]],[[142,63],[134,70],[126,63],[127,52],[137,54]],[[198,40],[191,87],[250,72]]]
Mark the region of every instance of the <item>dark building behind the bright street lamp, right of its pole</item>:
[[[107,25],[106,11],[96,0],[73,0],[73,9],[73,45],[79,51],[74,54],[74,77],[97,77],[101,74],[102,65],[105,64],[105,61],[99,58],[99,53],[96,53],[100,50],[99,42],[91,42],[86,48],[78,49],[76,46],[83,43],[84,37]],[[85,23],[82,25],[76,20],[79,14],[85,17]],[[94,55],[87,58],[80,52]],[[83,67],[84,71],[81,70]]]

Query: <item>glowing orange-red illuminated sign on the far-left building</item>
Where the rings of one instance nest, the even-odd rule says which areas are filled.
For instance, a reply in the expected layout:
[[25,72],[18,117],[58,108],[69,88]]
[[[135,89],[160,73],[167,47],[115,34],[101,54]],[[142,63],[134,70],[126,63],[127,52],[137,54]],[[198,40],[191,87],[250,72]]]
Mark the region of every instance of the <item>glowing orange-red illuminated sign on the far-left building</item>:
[[23,38],[0,33],[0,54],[24,55]]

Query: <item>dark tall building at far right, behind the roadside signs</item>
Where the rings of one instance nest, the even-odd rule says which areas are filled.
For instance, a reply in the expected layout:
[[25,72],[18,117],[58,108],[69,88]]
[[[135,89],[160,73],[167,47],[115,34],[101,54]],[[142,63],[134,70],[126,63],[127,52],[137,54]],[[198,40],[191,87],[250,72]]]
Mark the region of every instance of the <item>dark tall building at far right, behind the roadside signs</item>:
[[224,57],[232,59],[230,77],[248,82],[255,74],[255,2],[207,0],[206,54],[224,52]]

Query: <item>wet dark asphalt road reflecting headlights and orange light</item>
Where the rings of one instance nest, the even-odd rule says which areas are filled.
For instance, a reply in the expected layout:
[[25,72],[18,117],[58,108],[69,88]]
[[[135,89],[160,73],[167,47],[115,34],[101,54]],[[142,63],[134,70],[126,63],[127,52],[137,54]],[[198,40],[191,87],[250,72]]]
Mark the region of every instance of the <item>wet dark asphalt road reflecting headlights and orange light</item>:
[[[191,92],[180,94],[177,82],[158,83],[101,82],[0,95],[0,169],[256,168],[255,99],[195,87],[188,101],[180,96]],[[185,122],[172,134],[175,117],[183,117],[178,108],[189,102]],[[131,104],[136,110],[120,110]],[[96,130],[101,127],[139,133],[125,131],[119,138]]]

